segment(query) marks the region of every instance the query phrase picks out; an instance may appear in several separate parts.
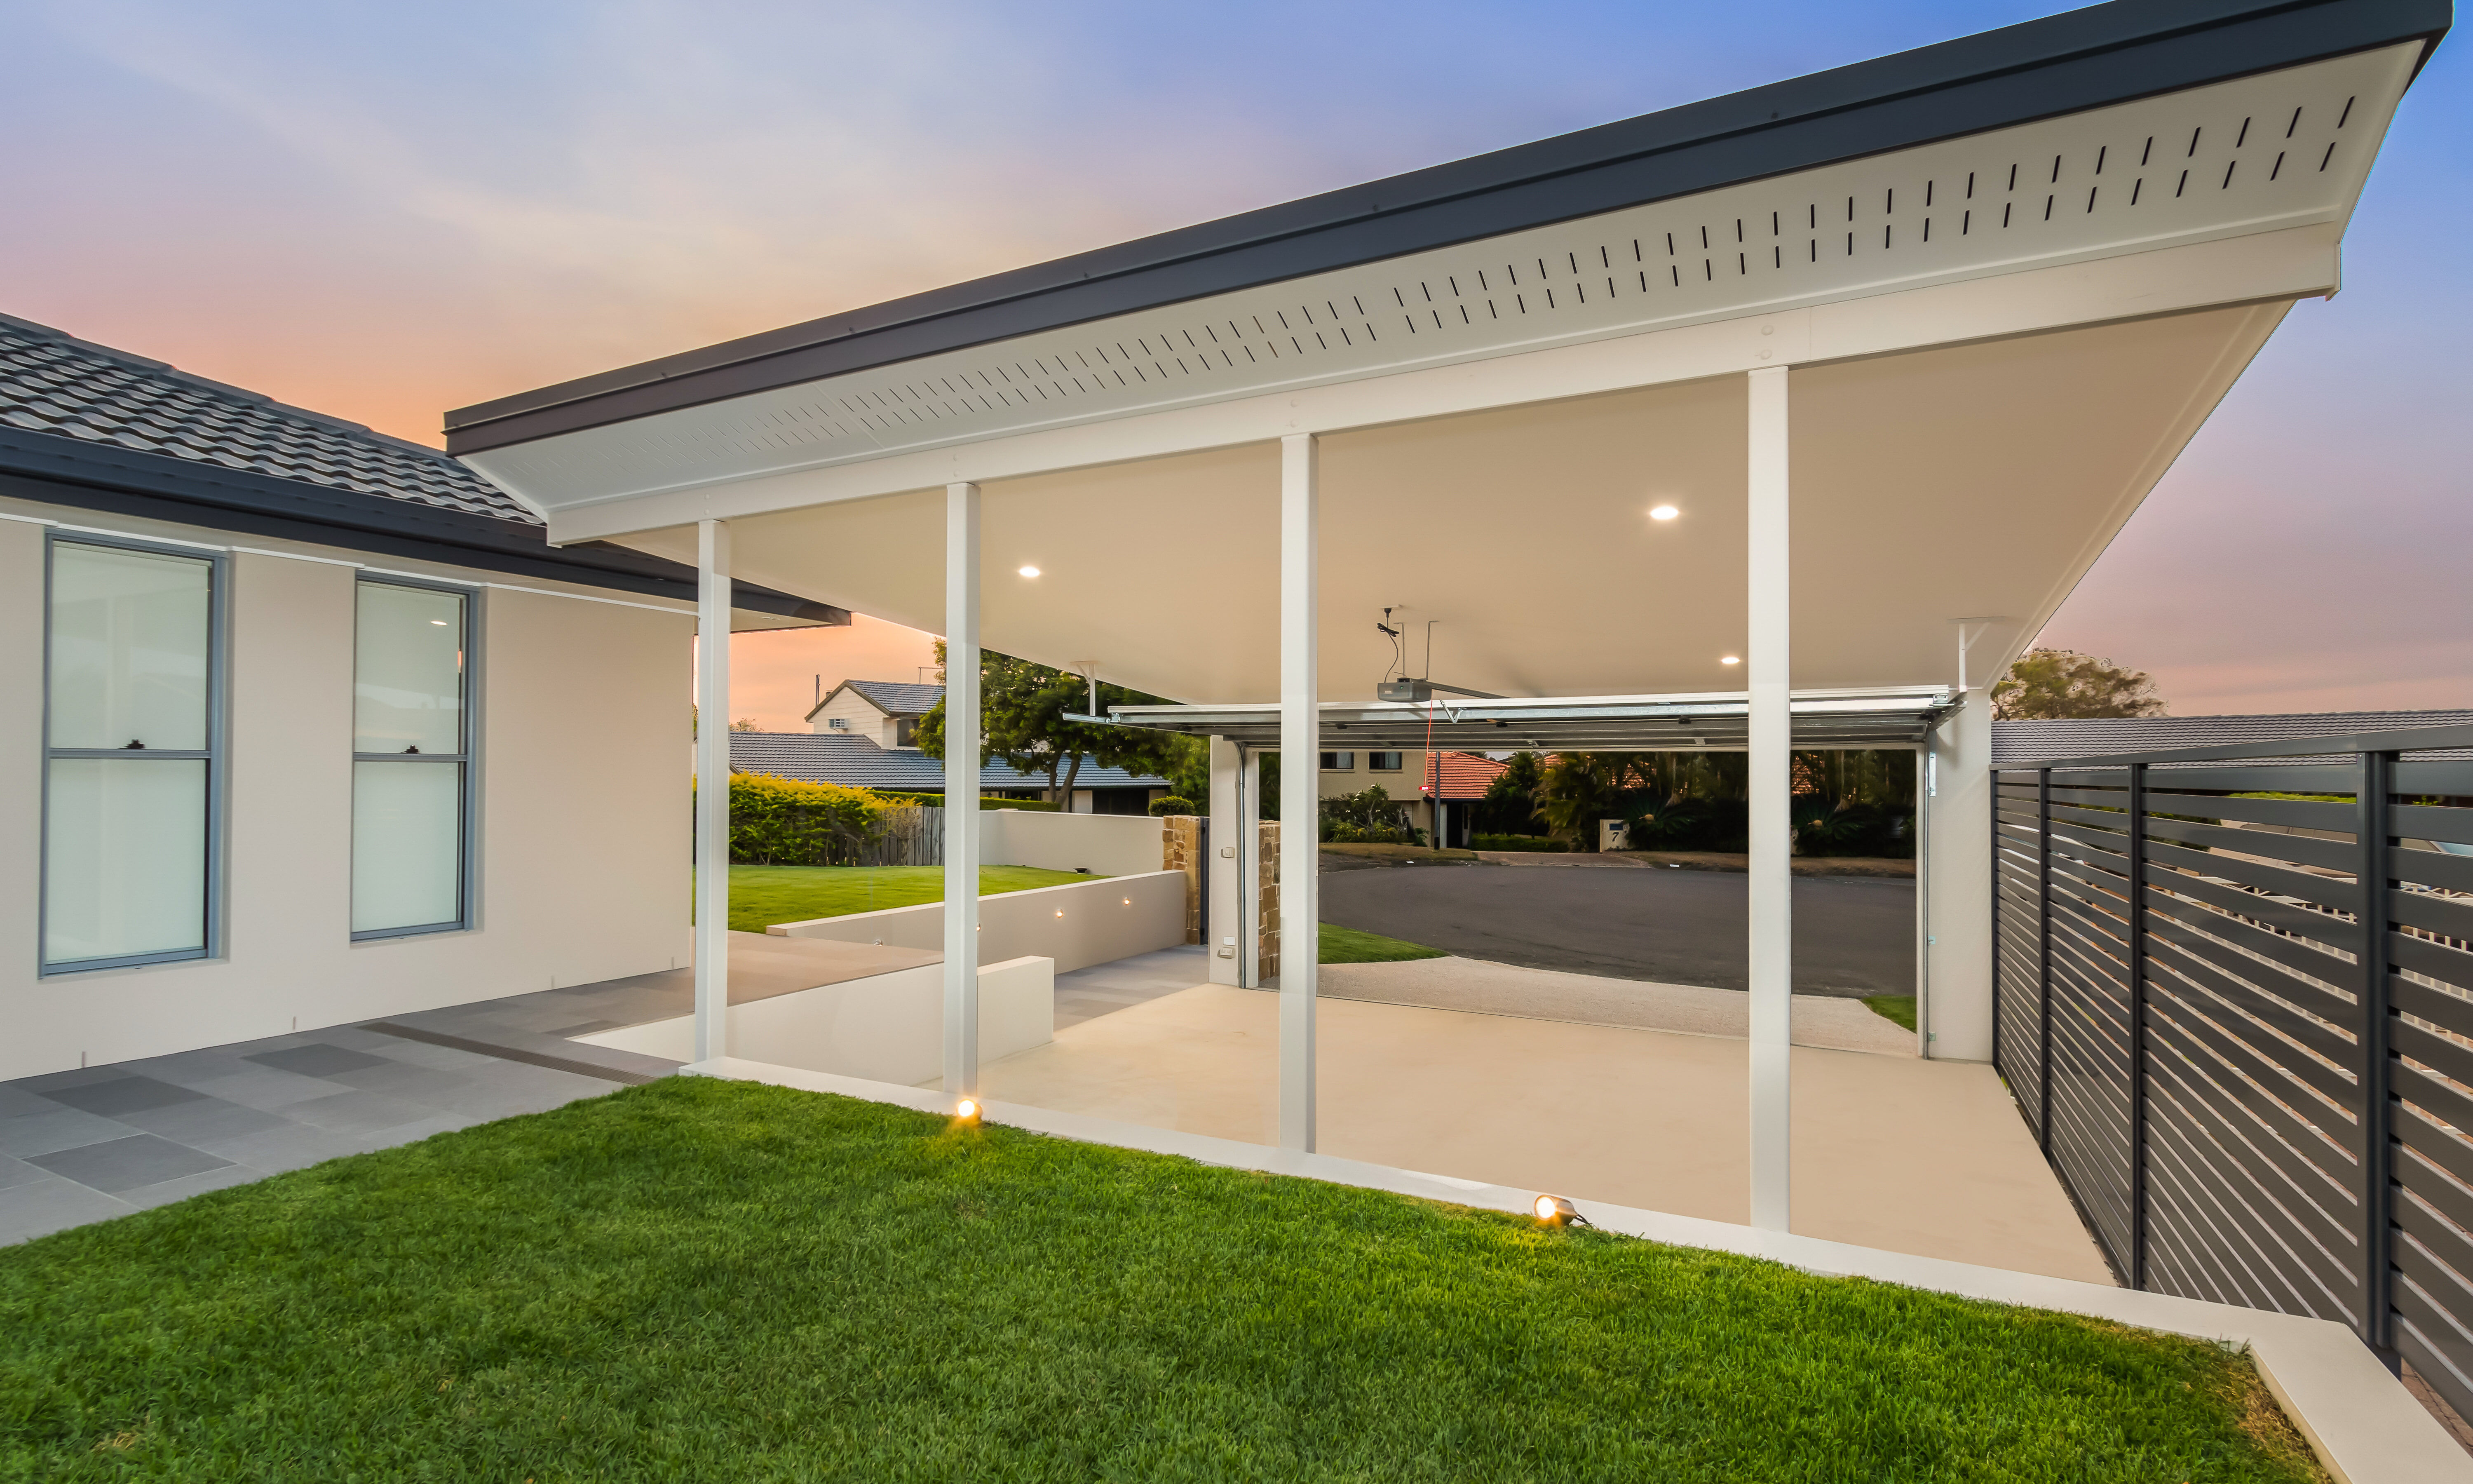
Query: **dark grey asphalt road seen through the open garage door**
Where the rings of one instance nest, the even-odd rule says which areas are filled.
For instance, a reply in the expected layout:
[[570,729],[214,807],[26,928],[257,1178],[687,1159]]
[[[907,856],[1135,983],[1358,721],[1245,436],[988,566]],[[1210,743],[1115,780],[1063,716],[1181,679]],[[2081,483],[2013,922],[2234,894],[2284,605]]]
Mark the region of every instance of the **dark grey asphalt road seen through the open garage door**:
[[[1731,871],[1397,866],[1326,871],[1323,920],[1464,957],[1743,989]],[[1795,878],[1798,994],[1914,994],[1914,883]]]

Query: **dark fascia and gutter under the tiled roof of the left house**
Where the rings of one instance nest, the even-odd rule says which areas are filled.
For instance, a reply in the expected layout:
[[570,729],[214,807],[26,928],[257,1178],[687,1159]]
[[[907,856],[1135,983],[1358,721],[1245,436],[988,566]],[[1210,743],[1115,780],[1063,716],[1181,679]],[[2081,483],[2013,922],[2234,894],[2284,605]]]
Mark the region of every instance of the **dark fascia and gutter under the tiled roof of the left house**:
[[[509,576],[695,601],[692,566],[628,547],[601,542],[551,547],[549,534],[537,524],[200,465],[134,448],[94,445],[59,433],[0,428],[0,495],[376,556],[448,561]],[[730,601],[749,613],[809,623],[851,621],[846,608],[744,581],[732,584]]]

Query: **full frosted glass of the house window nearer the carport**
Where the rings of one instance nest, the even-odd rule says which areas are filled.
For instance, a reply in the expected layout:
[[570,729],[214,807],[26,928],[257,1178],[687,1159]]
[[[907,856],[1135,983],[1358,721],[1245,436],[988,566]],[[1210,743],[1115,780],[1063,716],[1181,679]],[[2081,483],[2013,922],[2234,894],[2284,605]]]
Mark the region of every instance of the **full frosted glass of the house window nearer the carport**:
[[472,599],[361,581],[356,606],[351,930],[465,927]]

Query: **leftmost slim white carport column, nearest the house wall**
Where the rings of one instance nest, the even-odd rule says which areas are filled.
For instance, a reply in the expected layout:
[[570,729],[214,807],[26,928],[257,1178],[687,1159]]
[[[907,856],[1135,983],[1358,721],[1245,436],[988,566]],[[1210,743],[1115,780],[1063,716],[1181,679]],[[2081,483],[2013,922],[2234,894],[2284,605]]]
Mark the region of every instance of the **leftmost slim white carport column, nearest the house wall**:
[[730,524],[695,522],[695,1059],[730,1056]]

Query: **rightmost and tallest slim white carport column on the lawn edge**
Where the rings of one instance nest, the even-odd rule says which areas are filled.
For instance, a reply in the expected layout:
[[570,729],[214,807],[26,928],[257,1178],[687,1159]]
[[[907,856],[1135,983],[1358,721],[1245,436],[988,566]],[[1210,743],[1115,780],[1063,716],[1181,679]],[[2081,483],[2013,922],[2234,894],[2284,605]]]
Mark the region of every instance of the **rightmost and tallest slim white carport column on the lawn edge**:
[[1788,1229],[1793,1036],[1793,717],[1788,712],[1786,369],[1748,376],[1751,398],[1751,1224]]

